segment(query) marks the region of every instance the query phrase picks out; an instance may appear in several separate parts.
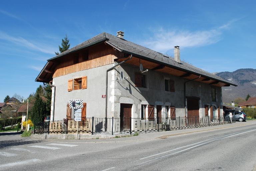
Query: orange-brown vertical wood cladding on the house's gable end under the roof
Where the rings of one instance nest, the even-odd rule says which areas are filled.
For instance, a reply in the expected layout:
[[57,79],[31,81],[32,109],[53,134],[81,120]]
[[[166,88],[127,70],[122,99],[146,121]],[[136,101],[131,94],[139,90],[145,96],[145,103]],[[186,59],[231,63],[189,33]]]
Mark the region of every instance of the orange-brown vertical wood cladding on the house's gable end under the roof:
[[[77,53],[79,53],[79,63],[74,64],[73,57]],[[88,57],[84,58],[84,55],[88,55]],[[120,52],[115,51],[112,47],[104,43],[95,45],[57,59],[55,63],[58,63],[58,65],[52,77],[55,78],[82,70],[113,64],[114,59],[120,56]]]

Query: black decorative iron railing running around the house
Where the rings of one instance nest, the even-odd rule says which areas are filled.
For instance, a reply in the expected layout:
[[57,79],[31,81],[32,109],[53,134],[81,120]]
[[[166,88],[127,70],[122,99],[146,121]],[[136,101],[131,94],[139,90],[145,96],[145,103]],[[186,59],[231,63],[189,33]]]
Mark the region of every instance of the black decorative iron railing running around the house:
[[229,123],[223,116],[175,117],[175,118],[82,118],[81,121],[63,119],[36,123],[34,133],[141,133],[177,130]]

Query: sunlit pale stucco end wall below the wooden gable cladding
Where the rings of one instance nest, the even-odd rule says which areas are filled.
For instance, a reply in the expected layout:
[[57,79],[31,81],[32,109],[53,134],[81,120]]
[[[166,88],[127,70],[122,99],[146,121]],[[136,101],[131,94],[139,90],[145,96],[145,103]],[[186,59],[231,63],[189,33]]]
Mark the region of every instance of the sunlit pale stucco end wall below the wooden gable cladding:
[[[53,79],[56,86],[54,120],[66,118],[67,103],[71,99],[83,99],[86,103],[86,117],[105,117],[106,70],[113,64],[67,74]],[[68,80],[87,76],[87,88],[68,91]],[[111,84],[112,75],[108,73],[108,85]],[[111,88],[108,88],[111,94]],[[108,101],[108,113],[111,111],[111,103]],[[108,117],[112,117],[109,116]]]

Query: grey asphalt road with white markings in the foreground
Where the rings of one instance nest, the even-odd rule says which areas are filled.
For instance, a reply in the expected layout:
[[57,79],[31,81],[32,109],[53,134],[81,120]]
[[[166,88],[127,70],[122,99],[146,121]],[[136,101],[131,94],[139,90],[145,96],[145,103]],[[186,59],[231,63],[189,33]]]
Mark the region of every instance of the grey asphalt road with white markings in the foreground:
[[256,164],[255,140],[256,124],[148,140],[34,140],[1,134],[0,170],[249,171]]

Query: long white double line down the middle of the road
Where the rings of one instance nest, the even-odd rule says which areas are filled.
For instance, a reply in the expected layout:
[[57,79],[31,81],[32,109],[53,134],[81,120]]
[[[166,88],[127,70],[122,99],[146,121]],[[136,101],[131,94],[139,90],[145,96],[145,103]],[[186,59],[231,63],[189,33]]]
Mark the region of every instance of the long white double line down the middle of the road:
[[[249,129],[249,131],[246,131],[246,132],[241,131],[241,132],[236,132],[236,133],[232,133],[232,134],[228,134],[228,135],[223,135],[223,136],[216,137],[216,138],[211,138],[211,139],[208,139],[208,140],[204,140],[204,141],[200,141],[200,142],[197,142],[197,143],[194,143],[194,144],[190,144],[190,145],[186,145],[186,146],[183,146],[183,147],[175,148],[175,149],[172,149],[172,150],[169,150],[169,151],[165,151],[165,152],[162,152],[162,153],[157,153],[157,154],[154,154],[154,155],[150,155],[150,156],[141,158],[140,160],[146,159],[146,158],[149,158],[149,157],[153,157],[153,156],[156,156],[156,155],[164,154],[164,153],[167,153],[167,152],[171,152],[171,151],[174,151],[174,150],[177,150],[177,149],[180,149],[180,148],[184,148],[184,147],[188,147],[188,146],[191,146],[191,145],[195,145],[195,144],[198,144],[198,143],[202,143],[202,142],[205,142],[205,141],[208,141],[208,142],[205,142],[205,143],[196,145],[196,146],[192,146],[192,147],[186,148],[186,149],[181,150],[181,151],[177,151],[177,152],[175,152],[175,153],[167,154],[167,155],[164,155],[164,156],[161,156],[161,157],[152,159],[152,160],[156,160],[156,159],[159,159],[159,158],[162,158],[162,157],[166,157],[166,156],[169,156],[169,155],[173,155],[173,154],[176,154],[176,153],[180,153],[180,152],[182,152],[182,151],[189,150],[189,149],[191,149],[191,148],[195,148],[195,147],[198,147],[198,146],[201,146],[201,145],[204,145],[204,144],[208,144],[208,143],[210,143],[210,142],[214,142],[214,141],[217,141],[217,140],[220,140],[220,139],[223,139],[223,138],[228,138],[228,137],[231,137],[231,136],[235,136],[235,135],[239,135],[239,134],[243,134],[243,133],[247,133],[247,132],[251,132],[251,131],[255,131],[255,130],[256,130],[256,129],[252,129],[252,130]],[[209,140],[211,140],[211,141],[209,141]],[[149,160],[149,161],[152,161],[152,160]],[[149,162],[149,161],[146,161],[146,162],[143,162],[143,163],[140,163],[140,164],[144,164],[144,163],[147,163],[147,162]],[[139,164],[139,165],[140,165],[140,164]]]

